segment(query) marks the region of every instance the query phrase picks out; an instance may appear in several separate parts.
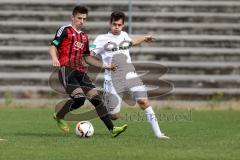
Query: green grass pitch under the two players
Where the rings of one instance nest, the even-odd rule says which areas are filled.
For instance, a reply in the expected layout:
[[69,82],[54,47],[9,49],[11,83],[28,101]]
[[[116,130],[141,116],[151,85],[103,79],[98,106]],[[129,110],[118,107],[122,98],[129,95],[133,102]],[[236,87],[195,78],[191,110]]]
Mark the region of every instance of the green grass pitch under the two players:
[[[155,109],[156,111],[156,109]],[[163,132],[153,135],[140,109],[123,109],[116,124],[129,128],[111,138],[99,119],[91,120],[95,134],[89,139],[64,134],[50,108],[0,109],[0,160],[234,160],[240,157],[240,112],[233,110],[157,110]]]

